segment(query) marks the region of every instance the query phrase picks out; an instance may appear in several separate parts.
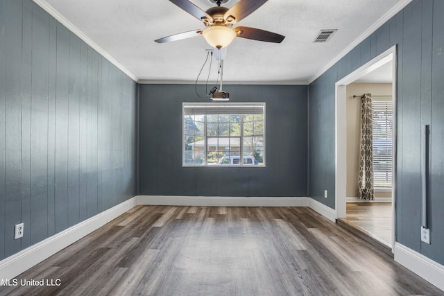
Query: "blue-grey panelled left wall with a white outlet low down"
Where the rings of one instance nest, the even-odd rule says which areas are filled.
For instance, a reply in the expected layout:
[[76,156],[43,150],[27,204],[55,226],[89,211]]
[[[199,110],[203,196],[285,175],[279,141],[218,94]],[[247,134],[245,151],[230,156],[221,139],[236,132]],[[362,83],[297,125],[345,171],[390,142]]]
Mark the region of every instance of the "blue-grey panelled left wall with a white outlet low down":
[[0,260],[135,195],[136,103],[39,6],[0,1]]

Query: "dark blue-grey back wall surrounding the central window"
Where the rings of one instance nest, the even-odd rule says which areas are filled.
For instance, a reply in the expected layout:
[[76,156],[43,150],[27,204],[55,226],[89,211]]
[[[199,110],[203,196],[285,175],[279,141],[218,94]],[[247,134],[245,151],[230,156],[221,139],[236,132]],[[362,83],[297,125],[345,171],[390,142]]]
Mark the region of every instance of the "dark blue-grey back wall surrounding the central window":
[[194,85],[140,85],[139,194],[307,196],[307,86],[224,89],[230,102],[266,102],[266,167],[183,168],[182,102],[203,100]]

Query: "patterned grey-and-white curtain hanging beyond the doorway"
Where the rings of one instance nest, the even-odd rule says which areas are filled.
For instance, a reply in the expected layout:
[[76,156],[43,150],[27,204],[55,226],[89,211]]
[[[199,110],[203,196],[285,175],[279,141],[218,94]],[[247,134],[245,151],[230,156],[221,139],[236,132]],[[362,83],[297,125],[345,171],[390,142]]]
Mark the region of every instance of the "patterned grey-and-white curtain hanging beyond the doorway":
[[374,200],[372,95],[361,98],[361,148],[359,155],[359,199]]

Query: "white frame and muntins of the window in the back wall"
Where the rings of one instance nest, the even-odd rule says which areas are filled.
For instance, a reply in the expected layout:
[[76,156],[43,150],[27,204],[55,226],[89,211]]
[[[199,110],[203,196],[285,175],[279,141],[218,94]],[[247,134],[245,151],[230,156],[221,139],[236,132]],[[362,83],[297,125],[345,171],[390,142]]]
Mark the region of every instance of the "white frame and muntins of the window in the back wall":
[[[236,110],[236,109],[238,109],[238,110],[242,110],[242,109],[245,109],[245,110],[248,110],[249,108],[255,108],[255,109],[257,109],[257,108],[262,108],[262,110],[263,110],[263,115],[264,115],[264,130],[263,130],[263,134],[262,134],[262,136],[260,136],[260,137],[262,137],[262,145],[263,145],[263,151],[262,151],[262,160],[263,160],[263,162],[262,162],[262,164],[258,164],[258,165],[250,165],[250,164],[245,164],[244,165],[244,161],[241,161],[240,162],[240,164],[225,164],[225,165],[214,165],[214,164],[208,164],[207,163],[207,141],[208,141],[208,138],[215,138],[215,136],[208,136],[207,135],[207,119],[206,119],[206,116],[205,116],[205,123],[204,123],[204,125],[205,125],[205,132],[204,132],[204,147],[203,147],[203,151],[204,151],[204,155],[205,155],[205,157],[204,157],[204,162],[203,162],[203,164],[186,164],[185,163],[185,137],[187,137],[186,136],[186,134],[185,134],[185,116],[187,116],[186,115],[186,112],[185,112],[185,109],[186,108],[191,108],[191,109],[193,109],[193,108],[203,108],[203,109],[205,109],[205,108],[209,108],[210,110],[211,109],[214,109],[216,107],[216,109],[220,109],[220,110],[223,110],[223,108],[225,108],[226,110]],[[265,141],[265,139],[266,139],[266,106],[265,106],[265,103],[264,102],[260,102],[260,103],[258,103],[258,102],[253,102],[253,103],[250,103],[250,102],[246,102],[246,103],[214,103],[214,102],[212,102],[212,103],[188,103],[188,102],[183,102],[182,103],[182,167],[230,167],[230,168],[233,168],[233,167],[236,167],[236,168],[239,168],[239,167],[244,167],[244,168],[246,168],[246,167],[249,167],[249,168],[264,168],[265,167],[265,165],[266,165],[266,141]],[[211,111],[210,111],[211,112]],[[223,111],[219,111],[219,114],[227,114],[227,113],[225,113],[225,112],[223,112]],[[240,114],[240,115],[244,115],[244,114],[248,114],[248,113],[239,113],[239,112],[234,112],[234,113],[228,113],[228,114]],[[242,116],[241,116],[242,117]],[[240,151],[239,151],[239,158],[240,157],[242,157],[242,159],[244,159],[244,157],[248,157],[248,155],[244,155],[244,137],[246,137],[246,138],[248,138],[249,136],[247,135],[247,136],[244,136],[244,120],[243,119],[241,119],[241,134],[240,134],[240,136],[239,136],[239,141],[240,141],[240,143],[239,143],[239,146],[240,146]],[[236,136],[236,137],[238,137],[238,136]],[[255,135],[253,135],[253,137],[255,137]],[[217,138],[224,138],[224,137],[220,137],[220,136],[217,136]],[[228,137],[228,138],[230,138],[230,137]]]

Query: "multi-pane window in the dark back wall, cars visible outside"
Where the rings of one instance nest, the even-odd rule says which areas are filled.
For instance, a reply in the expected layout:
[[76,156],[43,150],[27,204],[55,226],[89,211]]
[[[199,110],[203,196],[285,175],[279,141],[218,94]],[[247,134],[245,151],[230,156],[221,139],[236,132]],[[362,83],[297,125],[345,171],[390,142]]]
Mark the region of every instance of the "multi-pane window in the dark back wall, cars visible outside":
[[265,103],[183,103],[182,109],[183,166],[265,166]]

